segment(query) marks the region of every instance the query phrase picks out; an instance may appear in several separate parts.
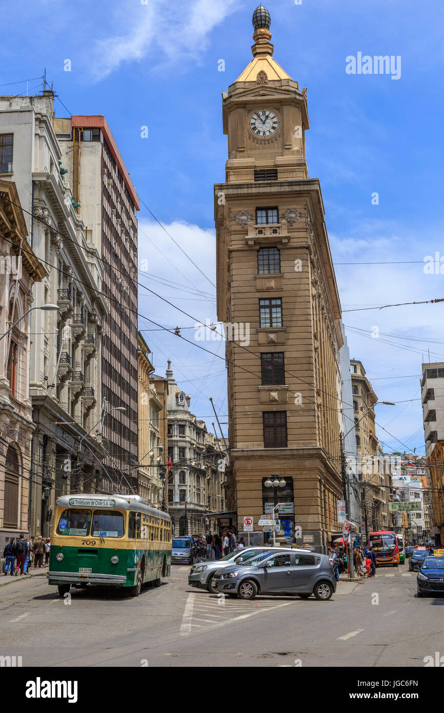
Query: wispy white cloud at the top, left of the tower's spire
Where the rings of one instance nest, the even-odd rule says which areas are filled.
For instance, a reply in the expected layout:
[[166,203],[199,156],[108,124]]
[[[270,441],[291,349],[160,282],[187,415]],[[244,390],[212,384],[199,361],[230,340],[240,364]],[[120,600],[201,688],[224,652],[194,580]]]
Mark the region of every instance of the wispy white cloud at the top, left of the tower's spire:
[[[124,4],[118,14],[123,31],[93,44],[88,64],[95,80],[103,79],[121,63],[150,56],[150,71],[165,61],[197,58],[207,38],[225,17],[235,11],[234,0],[149,0]],[[155,52],[158,56],[154,56]]]

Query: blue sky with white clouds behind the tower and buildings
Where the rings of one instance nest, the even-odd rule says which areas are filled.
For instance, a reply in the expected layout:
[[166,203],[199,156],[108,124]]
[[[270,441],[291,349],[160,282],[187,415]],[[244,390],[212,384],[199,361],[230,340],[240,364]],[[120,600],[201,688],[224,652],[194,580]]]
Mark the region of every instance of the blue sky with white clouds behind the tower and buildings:
[[[307,87],[307,163],[311,177],[321,181],[351,356],[363,361],[379,399],[398,404],[378,407],[377,423],[393,434],[379,429],[379,436],[393,448],[403,450],[398,438],[423,453],[420,364],[428,349],[430,361],[444,361],[444,306],[345,310],[444,296],[442,276],[425,275],[422,264],[435,251],[444,255],[443,4],[265,4],[274,57]],[[3,10],[9,29],[0,47],[0,84],[36,78],[46,67],[68,111],[106,116],[140,197],[210,278],[143,208],[139,267],[146,260],[143,270],[157,277],[141,281],[203,322],[216,318],[212,184],[224,180],[227,158],[221,93],[251,59],[255,6],[36,0]],[[358,52],[401,56],[401,78],[347,74],[346,57]],[[67,59],[70,72],[63,69]],[[224,72],[217,71],[220,59]],[[29,88],[37,92],[38,80]],[[26,84],[1,91],[21,93]],[[61,103],[55,107],[58,116],[67,116]],[[147,139],[140,137],[145,125]],[[378,205],[371,203],[374,192]],[[396,264],[339,265],[344,262]],[[170,282],[161,284],[159,277]],[[195,324],[143,288],[139,307],[169,327]],[[140,329],[154,328],[140,320]],[[177,381],[192,395],[192,410],[211,429],[209,396],[227,421],[224,362],[197,348],[193,329],[182,334],[193,344],[144,332],[158,373],[170,356]],[[220,342],[201,346],[223,356]]]

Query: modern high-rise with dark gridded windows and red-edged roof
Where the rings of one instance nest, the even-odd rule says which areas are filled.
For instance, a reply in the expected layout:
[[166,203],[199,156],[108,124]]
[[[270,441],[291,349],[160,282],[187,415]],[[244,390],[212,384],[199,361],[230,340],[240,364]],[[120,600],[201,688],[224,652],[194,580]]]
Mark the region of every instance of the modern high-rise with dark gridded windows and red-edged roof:
[[[102,337],[102,442],[108,473],[137,484],[138,460],[138,195],[104,116],[56,119],[56,135],[68,168],[76,208],[86,225],[86,247],[103,265],[109,314]],[[109,481],[104,481],[105,483]],[[127,483],[123,481],[125,486]]]

